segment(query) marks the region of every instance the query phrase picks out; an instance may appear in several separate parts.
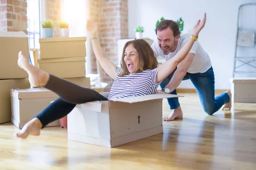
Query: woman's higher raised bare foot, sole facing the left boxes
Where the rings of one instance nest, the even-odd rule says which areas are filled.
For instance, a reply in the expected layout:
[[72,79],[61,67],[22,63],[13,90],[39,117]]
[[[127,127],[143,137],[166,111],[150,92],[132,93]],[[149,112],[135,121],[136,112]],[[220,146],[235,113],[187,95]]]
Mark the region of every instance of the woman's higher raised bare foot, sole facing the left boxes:
[[31,65],[28,59],[23,56],[22,51],[20,51],[18,55],[18,65],[29,74],[29,83],[33,87],[47,84],[49,80],[49,74],[41,70],[40,68]]

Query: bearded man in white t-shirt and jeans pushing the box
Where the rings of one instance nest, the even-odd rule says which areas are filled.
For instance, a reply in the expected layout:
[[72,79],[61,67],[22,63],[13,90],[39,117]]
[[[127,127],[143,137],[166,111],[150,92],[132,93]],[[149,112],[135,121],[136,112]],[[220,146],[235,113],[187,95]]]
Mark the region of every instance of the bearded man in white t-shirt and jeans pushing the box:
[[[180,34],[178,24],[172,20],[161,21],[157,25],[156,34],[157,41],[151,45],[151,48],[156,53],[157,57],[161,56],[166,60],[174,57],[186,41],[189,40],[191,35]],[[197,37],[195,37],[195,39],[196,38]],[[212,115],[218,111],[222,105],[224,105],[222,110],[230,110],[230,91],[226,91],[215,97],[215,79],[211,60],[198,41],[195,41],[189,54],[180,62],[175,71],[161,82],[160,87],[165,93],[177,94],[177,86],[182,80],[186,79],[192,81],[198,92],[201,105],[207,114]],[[169,98],[167,100],[170,109],[174,109],[174,111],[169,116],[163,117],[163,120],[171,121],[176,118],[182,118],[183,113],[178,98]]]

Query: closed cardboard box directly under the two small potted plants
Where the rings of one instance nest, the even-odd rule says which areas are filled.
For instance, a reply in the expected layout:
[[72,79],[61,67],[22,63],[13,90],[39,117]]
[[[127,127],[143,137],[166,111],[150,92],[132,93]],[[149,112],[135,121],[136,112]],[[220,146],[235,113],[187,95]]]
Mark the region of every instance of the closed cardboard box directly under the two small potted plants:
[[40,38],[41,59],[86,57],[86,37]]

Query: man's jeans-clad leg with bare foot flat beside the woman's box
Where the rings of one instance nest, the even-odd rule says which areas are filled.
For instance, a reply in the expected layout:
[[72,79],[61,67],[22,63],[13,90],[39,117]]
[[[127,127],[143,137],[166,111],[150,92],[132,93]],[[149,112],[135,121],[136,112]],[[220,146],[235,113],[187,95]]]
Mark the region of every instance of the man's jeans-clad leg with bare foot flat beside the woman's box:
[[[170,80],[172,79],[172,76],[175,73],[176,69],[168,77],[166,77],[166,79],[164,79],[160,83],[160,87],[162,89],[165,88],[165,86],[170,82]],[[189,79],[189,77],[187,75],[183,78],[183,80],[186,80],[186,79]],[[177,95],[176,89],[174,91],[172,91],[171,94]],[[183,113],[182,113],[182,110],[181,110],[181,107],[180,107],[180,103],[179,103],[178,97],[167,98],[167,101],[168,101],[168,104],[170,106],[170,109],[171,110],[174,109],[174,111],[171,114],[169,114],[169,116],[164,116],[163,120],[171,121],[171,120],[174,120],[174,119],[182,118],[183,117]]]

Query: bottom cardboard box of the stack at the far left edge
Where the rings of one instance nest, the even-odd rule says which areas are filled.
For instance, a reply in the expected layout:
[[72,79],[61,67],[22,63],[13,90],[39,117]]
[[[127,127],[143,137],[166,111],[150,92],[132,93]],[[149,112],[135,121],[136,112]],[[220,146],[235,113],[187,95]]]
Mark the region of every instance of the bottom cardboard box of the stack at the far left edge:
[[29,87],[29,79],[0,80],[0,123],[11,122],[12,107],[10,89]]

